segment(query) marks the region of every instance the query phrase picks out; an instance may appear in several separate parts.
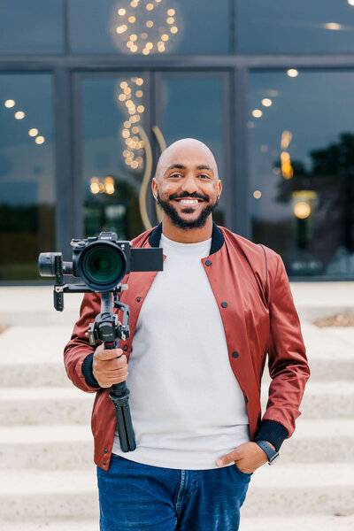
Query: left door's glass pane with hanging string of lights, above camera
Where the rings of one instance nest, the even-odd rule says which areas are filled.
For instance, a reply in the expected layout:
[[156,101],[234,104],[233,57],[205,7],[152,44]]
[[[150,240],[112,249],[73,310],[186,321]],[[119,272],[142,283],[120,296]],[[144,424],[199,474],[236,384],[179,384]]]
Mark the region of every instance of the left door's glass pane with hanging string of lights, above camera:
[[85,236],[114,231],[131,240],[143,230],[139,192],[144,170],[145,84],[139,75],[83,81]]

